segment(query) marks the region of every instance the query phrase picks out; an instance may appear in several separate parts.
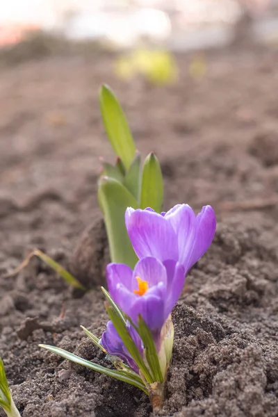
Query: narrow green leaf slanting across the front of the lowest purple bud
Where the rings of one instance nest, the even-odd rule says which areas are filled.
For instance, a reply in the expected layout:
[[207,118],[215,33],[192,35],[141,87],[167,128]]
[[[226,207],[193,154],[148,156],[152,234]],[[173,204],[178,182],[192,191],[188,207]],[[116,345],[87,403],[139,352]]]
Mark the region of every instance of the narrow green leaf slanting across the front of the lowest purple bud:
[[108,313],[109,318],[113,322],[117,333],[119,334],[120,338],[122,339],[126,349],[133,357],[134,361],[136,361],[138,367],[140,368],[142,374],[144,375],[146,381],[150,384],[154,382],[152,375],[149,373],[147,366],[145,365],[140,352],[138,351],[136,344],[133,342],[131,335],[129,334],[128,329],[126,329],[126,325],[122,322],[122,318],[118,315],[117,311],[111,305],[106,305],[106,310]]

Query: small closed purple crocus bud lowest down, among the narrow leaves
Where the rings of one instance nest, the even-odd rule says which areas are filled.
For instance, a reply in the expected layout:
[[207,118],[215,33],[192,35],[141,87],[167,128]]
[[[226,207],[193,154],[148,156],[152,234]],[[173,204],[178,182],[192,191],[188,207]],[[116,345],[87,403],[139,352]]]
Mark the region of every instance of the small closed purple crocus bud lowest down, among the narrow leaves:
[[[136,344],[140,354],[143,353],[143,345],[139,334],[136,332],[129,322],[126,322],[126,328],[129,330],[129,334]],[[131,357],[131,354],[126,349],[122,339],[120,338],[117,330],[115,329],[113,322],[110,320],[107,323],[106,331],[102,334],[99,343],[104,347],[107,352],[113,356],[119,357],[126,363],[131,369],[138,373],[138,366]]]

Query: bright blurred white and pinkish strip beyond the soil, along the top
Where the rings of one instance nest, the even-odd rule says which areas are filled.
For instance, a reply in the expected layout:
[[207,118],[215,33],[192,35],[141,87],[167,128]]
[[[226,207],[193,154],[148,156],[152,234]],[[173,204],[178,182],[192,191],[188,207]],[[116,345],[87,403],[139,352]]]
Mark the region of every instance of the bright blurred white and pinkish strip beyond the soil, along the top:
[[[172,50],[227,44],[252,19],[255,38],[277,36],[277,0],[10,0],[1,4],[0,45],[46,31],[115,48],[148,38]],[[275,13],[276,10],[276,13]]]

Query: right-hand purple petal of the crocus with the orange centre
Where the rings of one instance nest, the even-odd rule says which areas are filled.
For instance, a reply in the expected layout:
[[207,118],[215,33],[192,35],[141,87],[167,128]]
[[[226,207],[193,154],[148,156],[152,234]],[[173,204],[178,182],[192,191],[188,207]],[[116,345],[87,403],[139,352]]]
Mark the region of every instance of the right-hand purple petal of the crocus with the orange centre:
[[169,316],[172,309],[179,300],[186,279],[186,271],[181,263],[173,263],[173,261],[165,261],[167,270],[167,299],[165,302],[165,317]]

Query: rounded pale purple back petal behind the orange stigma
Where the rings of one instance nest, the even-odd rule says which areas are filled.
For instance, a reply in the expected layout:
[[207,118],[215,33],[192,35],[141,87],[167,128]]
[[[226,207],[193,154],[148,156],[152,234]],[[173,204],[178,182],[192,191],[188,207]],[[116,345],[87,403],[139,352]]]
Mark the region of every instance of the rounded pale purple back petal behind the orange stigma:
[[138,289],[136,277],[140,277],[142,281],[147,281],[148,287],[155,286],[158,282],[167,283],[167,274],[163,264],[152,256],[140,259],[133,271],[132,289]]

